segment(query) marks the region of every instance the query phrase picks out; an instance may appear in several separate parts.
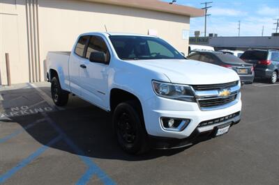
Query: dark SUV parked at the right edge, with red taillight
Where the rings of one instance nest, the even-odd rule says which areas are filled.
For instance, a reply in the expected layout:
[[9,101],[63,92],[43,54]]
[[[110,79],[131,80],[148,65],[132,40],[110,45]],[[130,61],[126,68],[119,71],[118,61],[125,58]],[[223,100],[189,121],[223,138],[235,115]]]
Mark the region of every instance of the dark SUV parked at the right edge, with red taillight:
[[270,83],[278,80],[278,50],[249,49],[241,55],[241,59],[254,65],[256,78],[268,79]]

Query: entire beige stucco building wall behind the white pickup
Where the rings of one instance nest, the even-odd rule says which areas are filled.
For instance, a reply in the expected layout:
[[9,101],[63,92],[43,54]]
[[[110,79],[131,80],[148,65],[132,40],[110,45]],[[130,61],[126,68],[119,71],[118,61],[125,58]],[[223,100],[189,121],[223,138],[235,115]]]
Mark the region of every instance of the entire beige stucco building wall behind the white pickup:
[[[87,1],[38,0],[37,34],[37,17],[35,16],[33,20],[32,11],[30,15],[27,15],[26,0],[17,0],[16,4],[13,4],[13,0],[0,0],[0,2],[2,84],[6,84],[5,52],[10,53],[12,83],[29,81],[31,56],[37,67],[40,62],[40,76],[43,80],[43,61],[47,51],[69,51],[80,33],[105,31],[105,25],[108,31],[113,32],[147,34],[149,29],[156,30],[160,38],[167,40],[179,51],[187,54],[188,40],[182,39],[182,31],[189,30],[190,17]],[[33,5],[36,10],[36,1]],[[5,14],[5,12],[13,12],[14,15]],[[35,29],[32,27],[33,33],[30,30],[27,31],[27,28],[30,28],[27,17],[30,18],[30,16],[31,23],[33,22],[31,25],[35,27]],[[30,46],[31,37],[33,46]],[[13,40],[13,43],[10,40]],[[35,77],[35,74],[33,76]]]

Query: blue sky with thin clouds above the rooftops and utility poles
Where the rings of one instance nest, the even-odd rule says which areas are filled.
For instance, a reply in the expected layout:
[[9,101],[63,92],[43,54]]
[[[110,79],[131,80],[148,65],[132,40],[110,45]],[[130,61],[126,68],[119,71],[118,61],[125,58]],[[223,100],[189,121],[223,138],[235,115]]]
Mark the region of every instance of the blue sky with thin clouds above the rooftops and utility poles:
[[[167,0],[163,0],[167,1]],[[169,0],[171,1],[171,0]],[[169,2],[168,1],[168,2]],[[279,18],[279,0],[208,0],[209,6],[206,33],[218,33],[218,36],[237,36],[239,21],[241,21],[241,36],[261,36],[264,26],[264,36],[275,32],[276,18]],[[177,4],[203,8],[205,0],[176,0]],[[190,36],[194,31],[204,35],[204,17],[190,19]],[[279,32],[279,30],[278,30]]]

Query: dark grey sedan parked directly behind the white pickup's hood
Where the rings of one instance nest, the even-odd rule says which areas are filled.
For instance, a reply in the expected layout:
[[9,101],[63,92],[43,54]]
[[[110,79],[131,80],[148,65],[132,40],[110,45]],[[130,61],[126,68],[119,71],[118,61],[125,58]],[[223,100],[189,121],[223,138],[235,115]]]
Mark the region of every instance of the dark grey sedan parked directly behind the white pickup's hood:
[[252,83],[254,81],[254,67],[232,54],[224,54],[218,51],[197,51],[187,58],[232,69],[239,74],[242,83]]

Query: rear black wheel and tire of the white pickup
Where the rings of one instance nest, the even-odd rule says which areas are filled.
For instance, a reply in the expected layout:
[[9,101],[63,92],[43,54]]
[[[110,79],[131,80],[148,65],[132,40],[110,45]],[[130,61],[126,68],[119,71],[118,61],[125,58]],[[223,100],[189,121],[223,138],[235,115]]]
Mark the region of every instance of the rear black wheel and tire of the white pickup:
[[52,78],[52,100],[56,106],[65,106],[68,103],[69,93],[61,89],[59,80],[56,77]]

